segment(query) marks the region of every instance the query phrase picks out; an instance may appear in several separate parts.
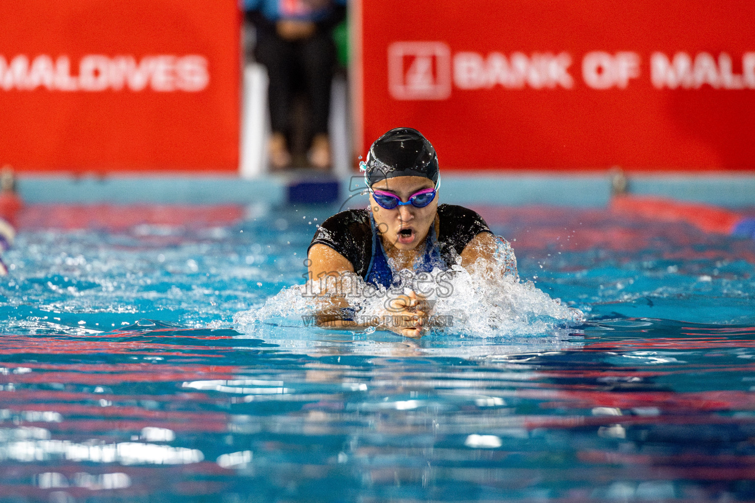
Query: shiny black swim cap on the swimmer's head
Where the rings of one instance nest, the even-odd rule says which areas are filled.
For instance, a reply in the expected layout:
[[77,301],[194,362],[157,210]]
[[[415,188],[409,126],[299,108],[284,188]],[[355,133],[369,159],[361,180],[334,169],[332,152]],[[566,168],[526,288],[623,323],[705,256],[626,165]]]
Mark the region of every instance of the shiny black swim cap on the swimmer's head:
[[362,170],[370,186],[394,176],[424,176],[437,184],[438,155],[418,130],[396,127],[374,141]]

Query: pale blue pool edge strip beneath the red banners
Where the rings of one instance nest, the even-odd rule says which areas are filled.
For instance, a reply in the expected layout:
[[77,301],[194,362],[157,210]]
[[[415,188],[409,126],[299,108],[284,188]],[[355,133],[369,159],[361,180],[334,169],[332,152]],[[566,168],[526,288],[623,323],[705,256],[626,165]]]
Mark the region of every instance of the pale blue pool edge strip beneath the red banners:
[[[20,176],[27,204],[270,204],[288,202],[296,183],[337,181],[345,200],[363,189],[360,176],[346,179],[311,173],[241,179],[235,176]],[[359,184],[361,187],[357,187]],[[451,204],[606,207],[609,176],[602,173],[487,173],[442,177],[443,201]],[[629,177],[633,195],[673,198],[721,207],[755,206],[755,175],[653,174]]]

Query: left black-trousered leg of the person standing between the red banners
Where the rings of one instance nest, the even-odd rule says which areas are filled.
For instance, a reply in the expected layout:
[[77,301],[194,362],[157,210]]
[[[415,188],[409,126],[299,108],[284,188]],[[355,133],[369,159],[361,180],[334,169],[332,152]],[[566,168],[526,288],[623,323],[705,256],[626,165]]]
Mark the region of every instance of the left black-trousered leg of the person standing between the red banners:
[[291,78],[293,78],[296,61],[293,44],[279,38],[274,32],[260,30],[257,35],[257,46],[254,48],[254,54],[257,61],[267,67],[269,80],[267,101],[270,108],[270,126],[273,130],[268,145],[268,154],[273,169],[281,169],[291,164],[287,138],[291,132],[289,119],[293,97]]

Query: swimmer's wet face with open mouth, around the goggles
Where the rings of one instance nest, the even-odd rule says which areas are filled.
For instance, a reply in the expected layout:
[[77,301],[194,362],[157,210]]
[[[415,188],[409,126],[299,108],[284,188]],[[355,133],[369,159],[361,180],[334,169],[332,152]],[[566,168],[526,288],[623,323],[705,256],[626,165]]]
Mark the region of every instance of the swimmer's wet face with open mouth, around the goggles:
[[[372,189],[395,194],[405,203],[415,192],[432,189],[434,186],[433,180],[424,176],[396,176],[374,182]],[[438,195],[436,194],[433,201],[424,208],[406,204],[386,210],[377,204],[370,194],[370,208],[384,245],[393,245],[399,250],[414,250],[424,238],[427,238],[430,225],[435,222]]]

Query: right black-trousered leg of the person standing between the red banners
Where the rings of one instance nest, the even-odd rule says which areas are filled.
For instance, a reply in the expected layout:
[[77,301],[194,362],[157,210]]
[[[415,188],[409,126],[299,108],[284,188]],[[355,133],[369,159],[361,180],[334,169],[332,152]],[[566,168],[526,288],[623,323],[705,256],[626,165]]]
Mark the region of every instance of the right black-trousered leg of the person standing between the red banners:
[[330,33],[317,32],[301,41],[299,55],[304,67],[307,94],[312,109],[313,140],[310,162],[314,167],[327,169],[331,165],[328,116],[335,63],[335,45]]

